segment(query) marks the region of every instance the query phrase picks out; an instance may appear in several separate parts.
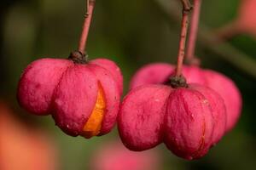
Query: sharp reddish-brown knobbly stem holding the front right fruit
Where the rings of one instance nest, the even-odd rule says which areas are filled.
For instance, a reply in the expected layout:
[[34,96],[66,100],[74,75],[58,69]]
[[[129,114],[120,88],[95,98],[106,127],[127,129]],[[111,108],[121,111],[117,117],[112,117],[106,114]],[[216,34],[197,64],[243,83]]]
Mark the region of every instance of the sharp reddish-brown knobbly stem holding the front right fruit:
[[180,42],[177,54],[177,70],[176,76],[180,77],[182,75],[182,67],[183,67],[183,59],[185,54],[185,46],[186,46],[186,39],[188,34],[188,27],[189,27],[189,11],[192,9],[192,6],[189,0],[181,0],[183,3],[183,19],[182,19],[182,28],[181,28],[181,35],[180,35]]

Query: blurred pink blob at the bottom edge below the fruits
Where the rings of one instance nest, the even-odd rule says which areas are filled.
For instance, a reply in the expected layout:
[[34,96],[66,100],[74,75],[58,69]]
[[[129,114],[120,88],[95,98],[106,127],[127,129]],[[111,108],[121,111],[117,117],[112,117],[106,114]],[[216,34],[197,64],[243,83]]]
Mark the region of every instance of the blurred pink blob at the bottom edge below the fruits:
[[93,170],[155,170],[160,167],[157,150],[132,152],[119,141],[102,144],[90,161]]

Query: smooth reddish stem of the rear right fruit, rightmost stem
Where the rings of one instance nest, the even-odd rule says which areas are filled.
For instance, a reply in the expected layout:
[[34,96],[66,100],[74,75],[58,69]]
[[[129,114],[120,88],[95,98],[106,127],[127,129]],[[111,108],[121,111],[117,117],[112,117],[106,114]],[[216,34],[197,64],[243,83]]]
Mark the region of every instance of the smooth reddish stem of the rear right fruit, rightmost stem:
[[190,31],[189,31],[189,42],[188,42],[188,51],[187,59],[189,64],[195,63],[195,44],[197,38],[198,25],[200,20],[201,12],[201,0],[194,0],[194,8],[190,22]]

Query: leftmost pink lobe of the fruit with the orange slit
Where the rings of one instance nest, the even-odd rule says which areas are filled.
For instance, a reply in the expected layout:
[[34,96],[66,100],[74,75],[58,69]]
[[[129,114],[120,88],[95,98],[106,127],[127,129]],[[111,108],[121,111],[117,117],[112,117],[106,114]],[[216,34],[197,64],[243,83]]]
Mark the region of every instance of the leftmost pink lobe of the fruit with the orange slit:
[[33,114],[49,115],[55,87],[63,72],[72,65],[67,59],[38,59],[28,65],[18,86],[20,105]]

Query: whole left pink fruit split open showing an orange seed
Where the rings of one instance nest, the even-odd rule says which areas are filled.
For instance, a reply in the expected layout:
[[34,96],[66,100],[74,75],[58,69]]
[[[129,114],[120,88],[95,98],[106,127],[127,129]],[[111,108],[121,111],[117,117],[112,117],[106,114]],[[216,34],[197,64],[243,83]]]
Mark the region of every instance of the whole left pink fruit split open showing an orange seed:
[[52,114],[57,126],[72,136],[108,133],[119,111],[122,75],[108,59],[82,62],[38,59],[28,65],[18,87],[18,100],[36,115]]

